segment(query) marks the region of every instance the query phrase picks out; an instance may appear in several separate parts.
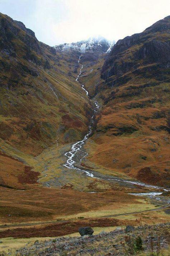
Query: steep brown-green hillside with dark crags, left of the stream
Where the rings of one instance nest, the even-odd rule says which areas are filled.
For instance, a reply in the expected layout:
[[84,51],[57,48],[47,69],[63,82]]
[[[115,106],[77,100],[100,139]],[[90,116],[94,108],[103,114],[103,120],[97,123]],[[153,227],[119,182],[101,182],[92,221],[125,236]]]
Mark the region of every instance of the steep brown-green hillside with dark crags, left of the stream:
[[61,143],[81,138],[90,105],[71,72],[80,66],[79,55],[71,62],[64,53],[61,58],[22,22],[3,14],[0,41],[0,138],[34,156],[58,137]]

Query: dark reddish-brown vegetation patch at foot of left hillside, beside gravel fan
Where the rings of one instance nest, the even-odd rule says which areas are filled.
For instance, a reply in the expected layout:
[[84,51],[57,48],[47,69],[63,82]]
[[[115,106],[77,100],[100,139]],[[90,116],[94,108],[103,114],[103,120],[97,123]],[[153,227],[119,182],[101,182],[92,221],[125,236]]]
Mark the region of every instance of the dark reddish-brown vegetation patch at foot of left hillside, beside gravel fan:
[[39,172],[31,171],[32,167],[25,166],[24,174],[18,176],[18,181],[21,184],[37,183]]

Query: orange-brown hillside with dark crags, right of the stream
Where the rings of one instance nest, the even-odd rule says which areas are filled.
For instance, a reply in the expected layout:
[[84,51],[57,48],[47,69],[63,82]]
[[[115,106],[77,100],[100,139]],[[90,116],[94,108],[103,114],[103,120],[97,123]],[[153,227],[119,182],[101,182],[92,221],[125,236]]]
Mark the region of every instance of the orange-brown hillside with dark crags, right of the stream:
[[93,135],[96,148],[88,158],[107,170],[166,186],[170,185],[169,28],[170,16],[113,46],[96,90],[103,107]]

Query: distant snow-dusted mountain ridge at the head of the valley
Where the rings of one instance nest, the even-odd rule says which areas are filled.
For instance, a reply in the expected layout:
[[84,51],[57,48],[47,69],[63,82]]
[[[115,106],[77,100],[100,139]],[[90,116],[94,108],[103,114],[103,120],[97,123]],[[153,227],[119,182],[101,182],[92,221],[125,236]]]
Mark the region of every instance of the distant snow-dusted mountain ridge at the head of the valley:
[[109,41],[104,37],[98,38],[89,38],[88,40],[82,40],[78,42],[72,42],[71,44],[60,44],[56,45],[56,51],[66,51],[66,50],[77,50],[81,53],[85,52],[100,52],[100,53],[109,53],[113,48],[115,41]]

